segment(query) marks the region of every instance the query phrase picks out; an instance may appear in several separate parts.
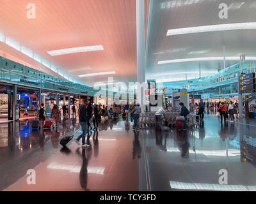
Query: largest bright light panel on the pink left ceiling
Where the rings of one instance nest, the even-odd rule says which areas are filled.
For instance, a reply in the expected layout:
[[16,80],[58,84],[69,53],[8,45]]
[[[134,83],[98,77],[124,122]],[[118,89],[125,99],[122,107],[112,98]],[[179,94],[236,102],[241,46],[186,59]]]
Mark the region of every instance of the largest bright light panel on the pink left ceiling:
[[56,56],[56,55],[65,55],[65,54],[73,54],[78,52],[90,52],[90,51],[99,51],[104,50],[102,45],[95,45],[95,46],[86,46],[86,47],[73,47],[73,48],[66,48],[61,50],[52,50],[47,51],[49,55]]

